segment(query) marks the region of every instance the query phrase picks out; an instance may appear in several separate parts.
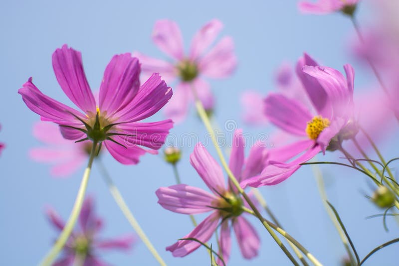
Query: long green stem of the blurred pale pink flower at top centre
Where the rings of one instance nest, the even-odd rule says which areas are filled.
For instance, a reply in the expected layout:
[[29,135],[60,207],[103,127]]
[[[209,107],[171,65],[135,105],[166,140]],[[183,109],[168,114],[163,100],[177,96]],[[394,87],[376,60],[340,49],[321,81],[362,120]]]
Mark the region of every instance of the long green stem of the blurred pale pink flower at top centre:
[[281,242],[281,240],[277,237],[277,235],[274,233],[274,231],[270,228],[270,226],[263,221],[263,217],[261,216],[261,214],[259,213],[259,211],[256,209],[255,205],[253,204],[253,202],[251,201],[251,199],[248,197],[248,195],[244,192],[244,190],[241,188],[241,186],[239,185],[237,179],[235,178],[234,174],[231,172],[230,168],[227,165],[226,160],[224,159],[223,153],[217,143],[216,137],[214,135],[214,131],[212,129],[212,126],[210,124],[209,118],[206,115],[206,112],[202,106],[201,101],[198,98],[197,92],[195,90],[194,87],[192,87],[193,89],[193,94],[195,97],[195,105],[197,108],[197,112],[200,115],[200,118],[203,122],[203,124],[205,125],[206,130],[208,131],[208,133],[211,136],[213,145],[216,149],[217,155],[219,156],[220,162],[223,166],[223,168],[225,169],[225,171],[227,172],[228,177],[230,178],[231,182],[233,183],[233,185],[237,188],[238,192],[243,196],[243,198],[245,199],[245,201],[248,203],[248,205],[251,207],[251,209],[254,211],[256,217],[261,221],[261,223],[263,224],[263,226],[266,228],[266,230],[269,232],[269,234],[272,236],[272,238],[274,239],[274,241],[277,243],[277,245],[281,248],[281,250],[285,253],[285,255],[290,259],[290,261],[294,264],[294,265],[299,265],[294,257],[291,255],[291,253],[287,250],[287,248],[284,246],[284,244]]

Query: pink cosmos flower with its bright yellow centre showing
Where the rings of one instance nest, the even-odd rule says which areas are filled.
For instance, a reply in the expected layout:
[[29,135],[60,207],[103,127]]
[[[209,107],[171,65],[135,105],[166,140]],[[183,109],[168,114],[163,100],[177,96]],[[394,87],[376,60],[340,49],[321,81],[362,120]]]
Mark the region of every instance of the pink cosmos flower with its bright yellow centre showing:
[[285,148],[285,159],[301,154],[289,163],[269,162],[262,173],[244,180],[243,187],[274,185],[287,179],[299,167],[320,151],[339,148],[343,139],[356,133],[353,121],[354,69],[344,66],[345,77],[330,67],[318,66],[307,54],[299,59],[297,75],[313,104],[305,107],[300,101],[279,93],[271,93],[265,99],[265,115],[275,126],[291,133],[298,141]]

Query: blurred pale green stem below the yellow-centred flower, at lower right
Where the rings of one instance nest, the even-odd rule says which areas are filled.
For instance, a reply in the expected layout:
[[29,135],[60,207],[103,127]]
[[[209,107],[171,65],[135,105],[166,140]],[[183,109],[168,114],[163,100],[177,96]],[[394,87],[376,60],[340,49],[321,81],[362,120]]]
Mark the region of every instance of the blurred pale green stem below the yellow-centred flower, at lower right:
[[324,187],[323,174],[320,170],[320,167],[318,167],[317,164],[312,164],[311,167],[312,167],[313,175],[315,176],[315,179],[317,182],[317,188],[319,189],[320,198],[323,202],[323,206],[326,209],[326,212],[327,212],[328,216],[330,217],[330,220],[333,222],[334,227],[337,229],[338,235],[341,238],[342,244],[344,244],[345,250],[348,253],[348,256],[352,262],[352,265],[356,265],[357,263],[356,263],[355,257],[353,257],[351,249],[349,247],[348,240],[346,239],[345,234],[342,231],[340,224],[338,223],[337,219],[335,218],[333,211],[327,204],[328,198],[327,198],[327,193],[326,193],[326,190]]

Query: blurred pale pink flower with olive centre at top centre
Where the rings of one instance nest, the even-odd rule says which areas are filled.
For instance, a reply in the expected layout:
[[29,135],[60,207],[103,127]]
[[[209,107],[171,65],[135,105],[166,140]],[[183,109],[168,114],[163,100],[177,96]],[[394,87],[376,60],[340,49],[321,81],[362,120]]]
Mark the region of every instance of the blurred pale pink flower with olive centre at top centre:
[[225,78],[234,71],[237,59],[231,37],[223,37],[208,50],[222,28],[223,24],[217,19],[212,19],[203,25],[194,35],[190,51],[186,55],[178,24],[168,19],[158,20],[155,22],[152,39],[158,48],[171,58],[171,61],[134,53],[134,56],[140,59],[144,73],[159,72],[168,83],[176,78],[179,79],[174,87],[174,97],[165,108],[167,117],[173,121],[181,122],[186,117],[189,103],[194,99],[192,86],[196,88],[205,110],[213,109],[214,99],[210,86],[202,76]]

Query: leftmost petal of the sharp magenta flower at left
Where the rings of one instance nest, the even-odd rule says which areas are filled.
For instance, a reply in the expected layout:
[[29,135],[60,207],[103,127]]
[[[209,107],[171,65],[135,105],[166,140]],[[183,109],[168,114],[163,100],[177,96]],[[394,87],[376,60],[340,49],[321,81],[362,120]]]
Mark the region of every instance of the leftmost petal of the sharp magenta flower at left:
[[22,95],[22,100],[31,111],[44,117],[48,121],[55,122],[59,125],[68,125],[70,122],[78,121],[72,114],[81,119],[85,119],[78,111],[41,93],[32,83],[32,78],[29,78],[29,80],[22,85],[18,93]]

